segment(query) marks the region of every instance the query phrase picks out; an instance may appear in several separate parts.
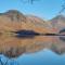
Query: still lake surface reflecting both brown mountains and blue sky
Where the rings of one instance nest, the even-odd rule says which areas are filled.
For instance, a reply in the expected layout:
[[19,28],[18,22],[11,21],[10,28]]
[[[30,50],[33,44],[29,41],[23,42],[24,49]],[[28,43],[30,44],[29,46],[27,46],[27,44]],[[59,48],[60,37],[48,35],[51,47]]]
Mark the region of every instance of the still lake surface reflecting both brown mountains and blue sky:
[[[47,52],[44,49],[48,49]],[[0,53],[9,57],[8,65],[40,65],[41,63],[41,65],[63,65],[65,58],[61,60],[63,63],[58,58],[61,54],[65,53],[65,41],[61,39],[60,36],[36,36],[34,38],[24,39],[1,36]],[[15,58],[14,62],[12,60],[13,57]]]

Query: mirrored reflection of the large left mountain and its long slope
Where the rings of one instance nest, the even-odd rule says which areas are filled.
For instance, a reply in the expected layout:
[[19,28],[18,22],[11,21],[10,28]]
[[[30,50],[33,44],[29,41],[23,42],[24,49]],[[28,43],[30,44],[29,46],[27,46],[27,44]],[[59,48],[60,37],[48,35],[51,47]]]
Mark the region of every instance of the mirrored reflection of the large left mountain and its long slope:
[[23,53],[34,53],[44,48],[50,48],[51,41],[52,37],[50,38],[41,36],[32,39],[18,39],[15,37],[1,36],[0,52],[9,57],[17,57]]

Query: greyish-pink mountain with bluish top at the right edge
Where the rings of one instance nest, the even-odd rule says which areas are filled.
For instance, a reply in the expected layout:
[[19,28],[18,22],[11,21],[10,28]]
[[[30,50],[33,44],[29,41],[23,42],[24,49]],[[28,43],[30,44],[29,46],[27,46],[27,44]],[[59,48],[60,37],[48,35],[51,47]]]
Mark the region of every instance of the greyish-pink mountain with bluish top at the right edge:
[[51,20],[52,29],[54,32],[60,32],[62,29],[65,29],[65,16],[57,15]]

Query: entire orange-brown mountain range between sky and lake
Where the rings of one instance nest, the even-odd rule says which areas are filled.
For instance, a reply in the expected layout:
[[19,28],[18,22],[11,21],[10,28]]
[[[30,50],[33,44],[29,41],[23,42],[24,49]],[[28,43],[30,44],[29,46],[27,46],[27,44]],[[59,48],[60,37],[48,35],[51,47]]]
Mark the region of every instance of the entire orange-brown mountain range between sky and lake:
[[20,11],[9,10],[0,13],[0,31],[34,30],[40,34],[57,34],[65,28],[65,16],[57,15],[44,21],[38,16],[24,15]]

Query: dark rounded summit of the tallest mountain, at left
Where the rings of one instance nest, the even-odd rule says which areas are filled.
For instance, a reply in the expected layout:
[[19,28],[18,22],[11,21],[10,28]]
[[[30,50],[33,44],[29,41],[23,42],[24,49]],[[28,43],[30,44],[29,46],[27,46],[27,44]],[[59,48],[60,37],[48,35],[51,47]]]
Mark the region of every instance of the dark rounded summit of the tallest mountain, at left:
[[9,10],[8,12],[3,13],[3,15],[6,15],[8,17],[15,22],[16,21],[23,22],[24,20],[26,20],[25,15],[17,10]]

